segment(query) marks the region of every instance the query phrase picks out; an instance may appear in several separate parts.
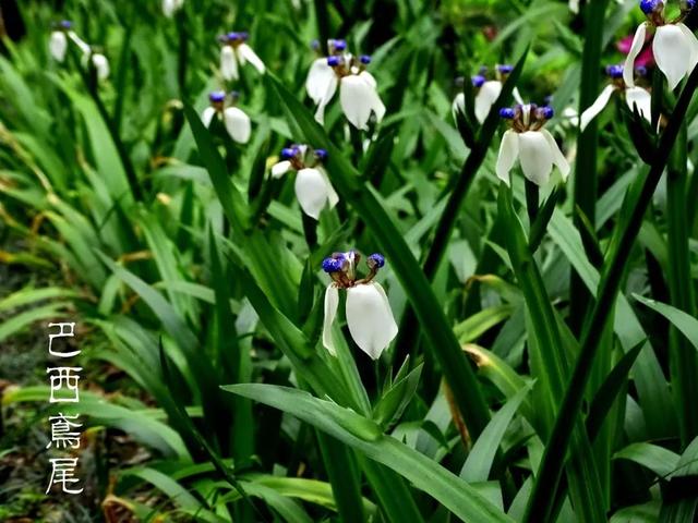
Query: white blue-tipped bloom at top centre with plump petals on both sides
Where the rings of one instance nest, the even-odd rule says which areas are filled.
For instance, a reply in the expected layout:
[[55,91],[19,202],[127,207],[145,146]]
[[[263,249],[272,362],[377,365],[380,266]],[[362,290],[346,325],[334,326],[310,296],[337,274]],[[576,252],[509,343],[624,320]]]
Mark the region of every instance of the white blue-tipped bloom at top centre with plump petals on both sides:
[[317,105],[315,120],[323,123],[325,107],[339,88],[339,104],[347,120],[357,129],[369,129],[371,113],[377,122],[385,115],[375,78],[365,70],[371,57],[344,52],[344,40],[329,40],[330,56],[313,62],[305,80],[308,95]]

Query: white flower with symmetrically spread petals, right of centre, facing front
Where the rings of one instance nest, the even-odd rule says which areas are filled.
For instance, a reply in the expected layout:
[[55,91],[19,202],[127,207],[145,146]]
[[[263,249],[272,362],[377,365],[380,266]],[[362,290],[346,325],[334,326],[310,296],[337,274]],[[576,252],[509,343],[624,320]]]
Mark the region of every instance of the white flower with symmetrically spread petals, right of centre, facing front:
[[542,126],[553,117],[550,107],[531,105],[516,109],[502,109],[500,114],[512,120],[512,129],[504,133],[497,157],[496,173],[509,184],[509,171],[518,159],[524,175],[539,186],[550,180],[553,166],[559,169],[563,180],[569,174],[569,163],[557,147],[555,138]]

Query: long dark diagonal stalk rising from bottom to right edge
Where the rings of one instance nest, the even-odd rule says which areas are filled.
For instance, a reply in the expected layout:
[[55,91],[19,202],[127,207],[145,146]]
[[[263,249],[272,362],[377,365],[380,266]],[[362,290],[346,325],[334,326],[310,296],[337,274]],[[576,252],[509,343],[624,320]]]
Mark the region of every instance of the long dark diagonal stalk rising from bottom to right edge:
[[609,247],[607,263],[602,272],[597,302],[592,309],[589,323],[583,329],[581,337],[579,357],[575,365],[575,370],[567,386],[562,408],[555,419],[555,426],[545,445],[543,459],[537,474],[537,482],[533,485],[531,497],[526,508],[525,523],[546,521],[555,496],[551,492],[557,488],[567,447],[571,436],[577,415],[581,408],[585,387],[589,380],[591,366],[600,346],[601,337],[607,321],[612,317],[615,299],[621,288],[622,277],[625,272],[633,243],[642,224],[642,217],[649,207],[654,190],[660,181],[662,172],[669,161],[669,155],[674,142],[678,136],[683,119],[688,110],[693,95],[698,86],[698,68],[688,77],[686,86],[678,98],[674,113],[672,114],[666,130],[662,134],[659,147],[654,153],[653,161],[649,173],[645,178],[642,188],[638,197],[629,204],[628,219],[623,228],[618,223],[614,238]]

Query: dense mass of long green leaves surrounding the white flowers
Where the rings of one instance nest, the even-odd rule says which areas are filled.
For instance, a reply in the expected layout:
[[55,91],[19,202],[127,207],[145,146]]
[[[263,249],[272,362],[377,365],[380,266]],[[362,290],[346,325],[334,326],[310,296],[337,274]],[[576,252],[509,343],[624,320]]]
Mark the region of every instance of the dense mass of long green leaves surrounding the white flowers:
[[[679,98],[647,61],[652,124],[618,102],[579,134],[642,20],[580,3],[1,2],[0,520],[691,521],[697,78]],[[51,58],[62,20],[108,77]],[[224,78],[231,31],[266,74]],[[372,56],[368,131],[339,104],[313,120],[333,37]],[[517,66],[490,118],[454,122],[455,78],[496,64]],[[500,187],[514,84],[554,109],[567,185]],[[246,144],[200,121],[220,89]],[[328,151],[317,221],[269,172],[293,143]],[[344,324],[336,357],[320,341],[321,263],[351,247],[386,255],[400,328],[375,363]],[[70,498],[43,495],[57,318],[86,369]]]

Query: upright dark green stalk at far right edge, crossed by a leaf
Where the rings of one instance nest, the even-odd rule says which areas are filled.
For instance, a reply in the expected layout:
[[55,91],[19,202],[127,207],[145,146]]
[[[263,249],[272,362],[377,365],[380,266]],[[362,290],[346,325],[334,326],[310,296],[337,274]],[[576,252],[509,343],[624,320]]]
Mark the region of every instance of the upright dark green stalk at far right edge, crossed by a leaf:
[[[686,215],[686,124],[681,126],[666,175],[666,221],[669,226],[669,289],[671,303],[695,316],[696,305],[690,277],[688,220]],[[670,326],[670,372],[683,447],[698,435],[698,353],[688,340]],[[683,448],[682,447],[682,448]]]

